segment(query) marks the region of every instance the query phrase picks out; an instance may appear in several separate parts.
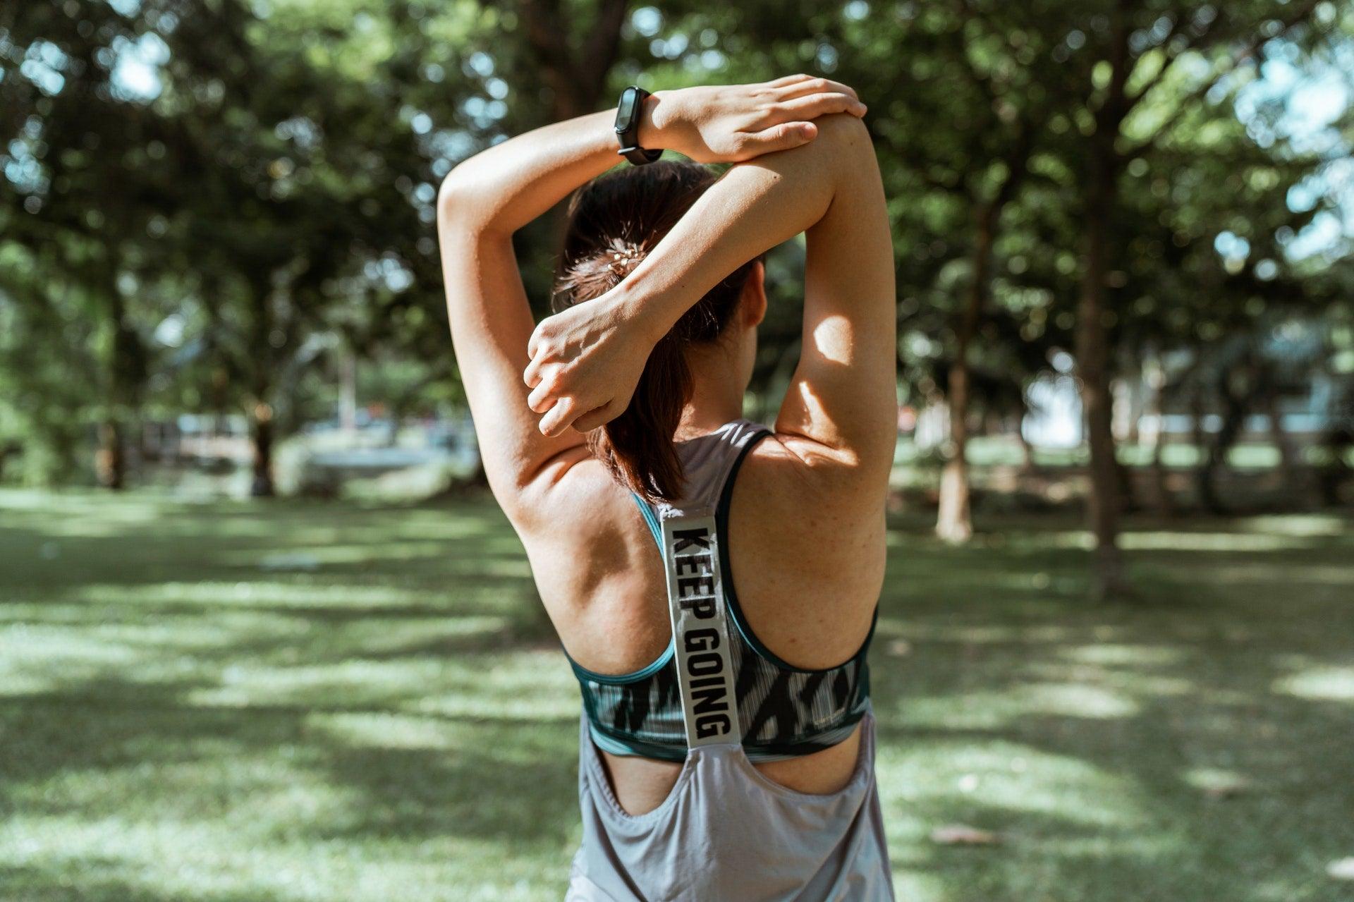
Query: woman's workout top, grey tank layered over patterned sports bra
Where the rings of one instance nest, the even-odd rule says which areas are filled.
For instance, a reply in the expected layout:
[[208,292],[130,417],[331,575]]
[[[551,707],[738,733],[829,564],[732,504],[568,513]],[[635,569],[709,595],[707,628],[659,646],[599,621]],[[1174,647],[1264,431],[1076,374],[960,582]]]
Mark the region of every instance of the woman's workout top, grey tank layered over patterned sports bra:
[[[737,614],[724,551],[728,494],[738,462],[762,435],[739,420],[678,444],[685,497],[649,511],[663,554],[673,642],[638,676],[578,674],[584,841],[566,902],[894,898],[865,649],[838,668],[799,670],[760,647]],[[624,700],[598,688],[611,685],[643,691]],[[796,792],[749,760],[753,749],[787,754],[831,745],[857,723],[856,768],[837,792]],[[612,792],[598,745],[640,737],[645,754],[680,757],[682,767],[662,804],[631,815]]]

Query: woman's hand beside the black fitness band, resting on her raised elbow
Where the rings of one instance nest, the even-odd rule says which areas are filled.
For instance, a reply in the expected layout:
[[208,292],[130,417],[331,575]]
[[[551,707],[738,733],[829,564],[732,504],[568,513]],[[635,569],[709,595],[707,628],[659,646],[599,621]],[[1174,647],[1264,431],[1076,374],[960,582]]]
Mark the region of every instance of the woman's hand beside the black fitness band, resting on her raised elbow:
[[833,112],[865,115],[849,87],[807,74],[761,84],[659,91],[646,104],[639,141],[697,163],[741,163],[789,150],[818,137],[814,119]]

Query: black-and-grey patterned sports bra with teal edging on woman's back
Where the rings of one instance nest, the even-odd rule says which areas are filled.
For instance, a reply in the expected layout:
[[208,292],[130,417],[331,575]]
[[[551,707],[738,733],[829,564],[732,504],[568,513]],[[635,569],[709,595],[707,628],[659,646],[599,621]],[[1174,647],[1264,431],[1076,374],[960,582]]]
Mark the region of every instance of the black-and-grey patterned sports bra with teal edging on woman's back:
[[[715,733],[708,741],[719,741],[723,722],[727,725],[723,741],[741,742],[753,761],[777,761],[841,742],[869,708],[865,656],[873,623],[849,661],[810,670],[787,664],[764,646],[738,607],[728,566],[728,501],[743,456],[768,435],[756,423],[735,420],[709,435],[678,443],[686,475],[685,497],[651,507],[635,496],[665,557],[674,639],[657,661],[620,676],[593,673],[569,660],[598,748],[612,754],[681,761],[689,735]],[[703,523],[712,531],[708,540],[705,532],[681,528]],[[692,557],[703,549],[711,551],[704,555],[709,558],[708,566]],[[709,597],[697,597],[707,589]],[[727,654],[718,651],[720,645]],[[723,703],[726,693],[733,704]],[[685,710],[684,696],[691,699]],[[718,714],[728,710],[733,715],[733,708],[737,723],[733,716]],[[700,722],[703,710],[705,723]]]

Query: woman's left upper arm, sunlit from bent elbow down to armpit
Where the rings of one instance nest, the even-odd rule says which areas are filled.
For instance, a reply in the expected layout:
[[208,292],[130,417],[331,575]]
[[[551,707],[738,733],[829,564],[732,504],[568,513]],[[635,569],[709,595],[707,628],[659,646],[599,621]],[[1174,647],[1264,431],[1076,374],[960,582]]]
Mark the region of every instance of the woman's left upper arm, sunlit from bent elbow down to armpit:
[[494,497],[520,509],[532,484],[586,455],[575,432],[547,439],[527,408],[527,341],[535,328],[512,234],[458,226],[455,191],[439,198],[447,317],[475,437]]

